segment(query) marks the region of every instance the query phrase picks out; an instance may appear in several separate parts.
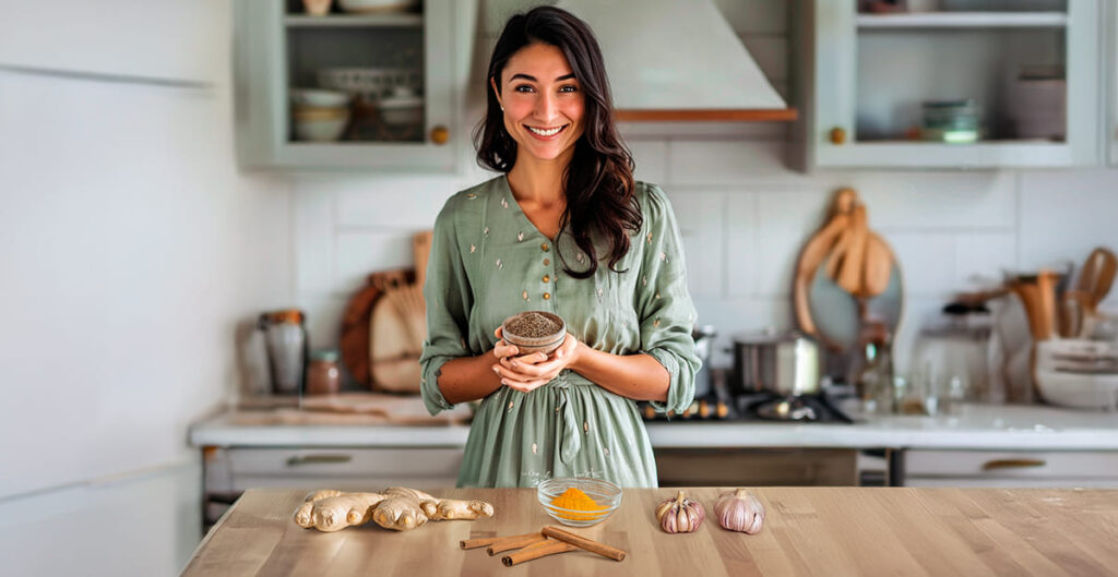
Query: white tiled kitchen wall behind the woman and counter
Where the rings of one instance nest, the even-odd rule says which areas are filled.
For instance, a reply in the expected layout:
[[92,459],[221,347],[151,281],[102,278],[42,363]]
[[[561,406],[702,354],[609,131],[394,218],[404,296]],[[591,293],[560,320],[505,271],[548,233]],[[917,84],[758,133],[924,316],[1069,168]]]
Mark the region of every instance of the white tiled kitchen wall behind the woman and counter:
[[[540,2],[481,0],[484,62],[508,15]],[[789,22],[780,0],[718,0],[774,86],[788,94]],[[473,69],[468,118],[477,118],[484,64]],[[470,126],[468,128],[472,128]],[[637,177],[663,185],[684,237],[699,321],[722,342],[735,331],[793,326],[792,273],[833,191],[853,186],[870,224],[894,249],[907,311],[896,353],[907,368],[913,336],[951,291],[1002,269],[1079,262],[1098,244],[1118,247],[1118,171],[823,172],[786,167],[781,124],[623,127]],[[459,131],[459,137],[462,137]],[[294,181],[295,270],[315,346],[337,343],[340,317],[369,271],[408,266],[409,235],[429,228],[453,192],[492,174],[464,151],[465,174],[330,176]],[[727,365],[720,354],[714,364]]]

